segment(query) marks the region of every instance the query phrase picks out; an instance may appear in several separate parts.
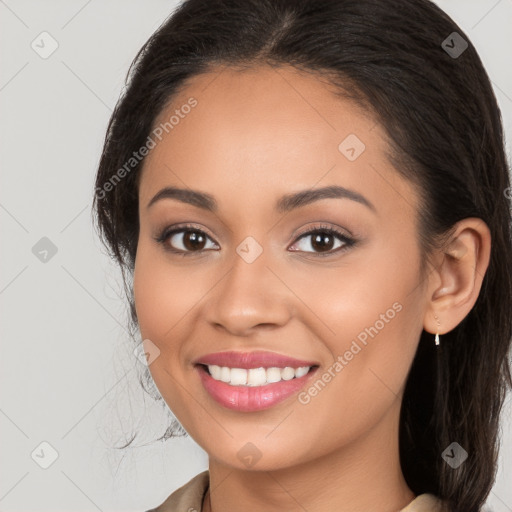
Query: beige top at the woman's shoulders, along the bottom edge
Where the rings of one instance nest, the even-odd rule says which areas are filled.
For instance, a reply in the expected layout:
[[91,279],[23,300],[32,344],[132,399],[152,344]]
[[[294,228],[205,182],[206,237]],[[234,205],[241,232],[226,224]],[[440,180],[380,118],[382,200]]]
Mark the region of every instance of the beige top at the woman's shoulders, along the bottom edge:
[[[201,512],[208,490],[209,471],[205,470],[176,489],[161,505],[146,512]],[[433,494],[420,494],[399,512],[438,512],[441,500]]]

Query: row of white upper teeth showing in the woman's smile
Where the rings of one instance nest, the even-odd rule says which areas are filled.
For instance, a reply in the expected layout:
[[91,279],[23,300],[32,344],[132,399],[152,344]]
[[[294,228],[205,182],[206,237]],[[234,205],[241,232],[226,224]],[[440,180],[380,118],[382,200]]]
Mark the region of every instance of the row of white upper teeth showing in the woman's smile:
[[306,375],[311,366],[301,366],[299,368],[229,368],[227,366],[218,366],[216,364],[208,365],[208,371],[215,380],[226,382],[231,386],[264,386],[279,382],[281,380],[291,380],[293,378]]

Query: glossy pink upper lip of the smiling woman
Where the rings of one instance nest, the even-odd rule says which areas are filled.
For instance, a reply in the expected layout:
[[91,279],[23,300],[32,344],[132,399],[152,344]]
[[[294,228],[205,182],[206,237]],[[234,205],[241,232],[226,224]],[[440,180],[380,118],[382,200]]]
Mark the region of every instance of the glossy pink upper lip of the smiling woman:
[[301,366],[318,366],[318,363],[295,359],[275,352],[216,352],[199,357],[194,364],[227,366],[229,368],[299,368]]

